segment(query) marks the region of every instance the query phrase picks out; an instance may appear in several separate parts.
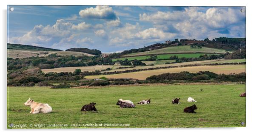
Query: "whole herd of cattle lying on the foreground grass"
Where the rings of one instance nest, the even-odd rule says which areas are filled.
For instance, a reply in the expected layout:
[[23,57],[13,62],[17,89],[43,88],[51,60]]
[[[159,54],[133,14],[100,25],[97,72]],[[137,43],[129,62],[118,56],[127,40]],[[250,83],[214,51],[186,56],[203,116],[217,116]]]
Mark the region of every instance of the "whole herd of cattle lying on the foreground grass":
[[[240,97],[245,97],[245,92],[239,95]],[[175,98],[171,101],[173,104],[179,104],[180,98]],[[188,102],[196,102],[195,99],[189,97]],[[151,102],[151,99],[149,98],[148,100],[141,100],[137,104],[149,104]],[[91,102],[90,104],[86,104],[82,106],[81,111],[91,111],[91,112],[97,112],[97,109],[95,107],[96,103]],[[119,105],[120,108],[134,108],[135,104],[131,100],[123,100],[123,99],[118,99],[117,105]],[[49,106],[46,103],[38,103],[35,102],[34,100],[31,100],[30,98],[24,103],[24,106],[30,106],[31,111],[29,113],[32,114],[37,114],[37,113],[50,113],[52,111],[51,106]],[[196,113],[194,110],[196,110],[197,107],[194,104],[193,106],[186,107],[183,112],[186,113]]]

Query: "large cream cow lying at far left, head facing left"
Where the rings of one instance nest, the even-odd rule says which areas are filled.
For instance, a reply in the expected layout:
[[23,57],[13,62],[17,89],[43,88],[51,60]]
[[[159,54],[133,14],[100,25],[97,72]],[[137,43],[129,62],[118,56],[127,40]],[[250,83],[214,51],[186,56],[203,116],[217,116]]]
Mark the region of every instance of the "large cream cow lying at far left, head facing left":
[[30,98],[27,100],[27,102],[24,103],[24,106],[30,106],[32,114],[37,114],[37,113],[50,113],[51,112],[51,106],[48,104],[43,104],[43,103],[38,103],[34,102],[34,100],[31,100]]

